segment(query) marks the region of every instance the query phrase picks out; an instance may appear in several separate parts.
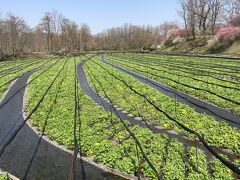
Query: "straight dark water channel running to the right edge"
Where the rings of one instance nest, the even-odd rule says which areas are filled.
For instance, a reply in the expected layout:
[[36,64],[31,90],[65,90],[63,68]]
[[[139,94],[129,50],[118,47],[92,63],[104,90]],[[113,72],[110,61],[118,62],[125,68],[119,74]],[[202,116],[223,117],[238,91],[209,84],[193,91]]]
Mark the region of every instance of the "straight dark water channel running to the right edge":
[[[167,95],[171,98],[175,98],[175,95],[176,95],[178,97],[177,100],[179,102],[183,102],[183,103],[189,105],[190,107],[194,108],[199,113],[208,114],[210,116],[213,116],[217,120],[224,120],[232,127],[236,127],[238,129],[240,129],[240,116],[239,115],[233,114],[233,113],[228,112],[228,111],[226,111],[222,108],[219,108],[215,105],[209,104],[209,103],[199,100],[195,97],[189,96],[188,94],[180,92],[174,88],[170,88],[164,84],[161,84],[159,82],[151,80],[145,76],[136,74],[129,70],[126,70],[122,67],[119,67],[115,64],[110,63],[106,59],[102,59],[102,61],[118,70],[121,70],[124,73],[127,73],[127,74],[133,76],[135,79],[139,80],[140,82],[151,86],[152,88],[164,93],[165,95]],[[151,84],[149,84],[149,83],[151,83]]]

